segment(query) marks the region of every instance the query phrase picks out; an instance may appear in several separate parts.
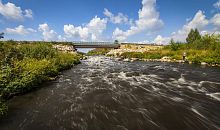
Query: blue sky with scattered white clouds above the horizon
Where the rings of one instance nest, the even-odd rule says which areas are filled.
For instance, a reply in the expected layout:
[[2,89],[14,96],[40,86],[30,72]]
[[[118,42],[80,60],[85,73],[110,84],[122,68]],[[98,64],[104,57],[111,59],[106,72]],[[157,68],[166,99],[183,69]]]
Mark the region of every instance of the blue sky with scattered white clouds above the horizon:
[[184,42],[220,34],[220,0],[0,0],[5,39]]

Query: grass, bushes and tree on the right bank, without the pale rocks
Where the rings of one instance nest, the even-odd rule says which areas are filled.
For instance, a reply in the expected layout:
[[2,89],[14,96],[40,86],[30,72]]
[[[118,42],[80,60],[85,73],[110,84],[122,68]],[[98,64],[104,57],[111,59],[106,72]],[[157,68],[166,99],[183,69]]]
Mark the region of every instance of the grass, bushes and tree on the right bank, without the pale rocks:
[[[198,33],[198,32],[197,32]],[[192,35],[192,34],[189,34]],[[191,38],[192,37],[192,38]],[[161,59],[169,57],[171,61],[182,60],[183,54],[189,62],[220,65],[220,35],[188,36],[186,43],[170,41],[169,45],[144,52],[124,52],[122,58]]]

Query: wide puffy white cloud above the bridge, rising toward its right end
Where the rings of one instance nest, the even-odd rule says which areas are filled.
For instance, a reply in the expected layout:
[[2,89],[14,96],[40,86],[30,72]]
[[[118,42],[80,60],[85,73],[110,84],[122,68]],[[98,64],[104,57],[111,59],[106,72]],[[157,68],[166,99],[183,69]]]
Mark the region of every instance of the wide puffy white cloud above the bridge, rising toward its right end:
[[80,38],[80,40],[101,40],[101,35],[106,29],[107,19],[95,16],[85,26],[75,27],[74,25],[64,25],[64,33],[69,38]]

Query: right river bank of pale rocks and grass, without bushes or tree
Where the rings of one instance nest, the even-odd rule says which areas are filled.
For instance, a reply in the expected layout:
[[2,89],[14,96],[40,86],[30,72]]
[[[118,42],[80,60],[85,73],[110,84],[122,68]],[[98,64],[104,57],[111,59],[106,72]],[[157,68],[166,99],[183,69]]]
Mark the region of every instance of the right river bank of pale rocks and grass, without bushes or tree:
[[[119,49],[113,49],[105,53],[106,56],[120,58],[124,61],[155,61],[155,62],[176,62],[201,64],[206,66],[220,66],[220,50],[197,50],[187,49],[187,44],[182,44],[181,49],[172,50],[170,45],[122,45]],[[183,54],[186,59],[183,60]]]

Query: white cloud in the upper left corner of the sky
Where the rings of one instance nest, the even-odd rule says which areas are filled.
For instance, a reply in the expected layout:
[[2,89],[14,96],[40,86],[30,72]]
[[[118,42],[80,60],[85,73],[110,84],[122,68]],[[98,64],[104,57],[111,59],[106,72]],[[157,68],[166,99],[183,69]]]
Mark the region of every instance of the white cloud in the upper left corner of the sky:
[[0,0],[0,14],[7,19],[23,20],[25,17],[32,18],[32,10],[26,9],[22,11],[21,7],[17,7],[13,3],[3,4]]

